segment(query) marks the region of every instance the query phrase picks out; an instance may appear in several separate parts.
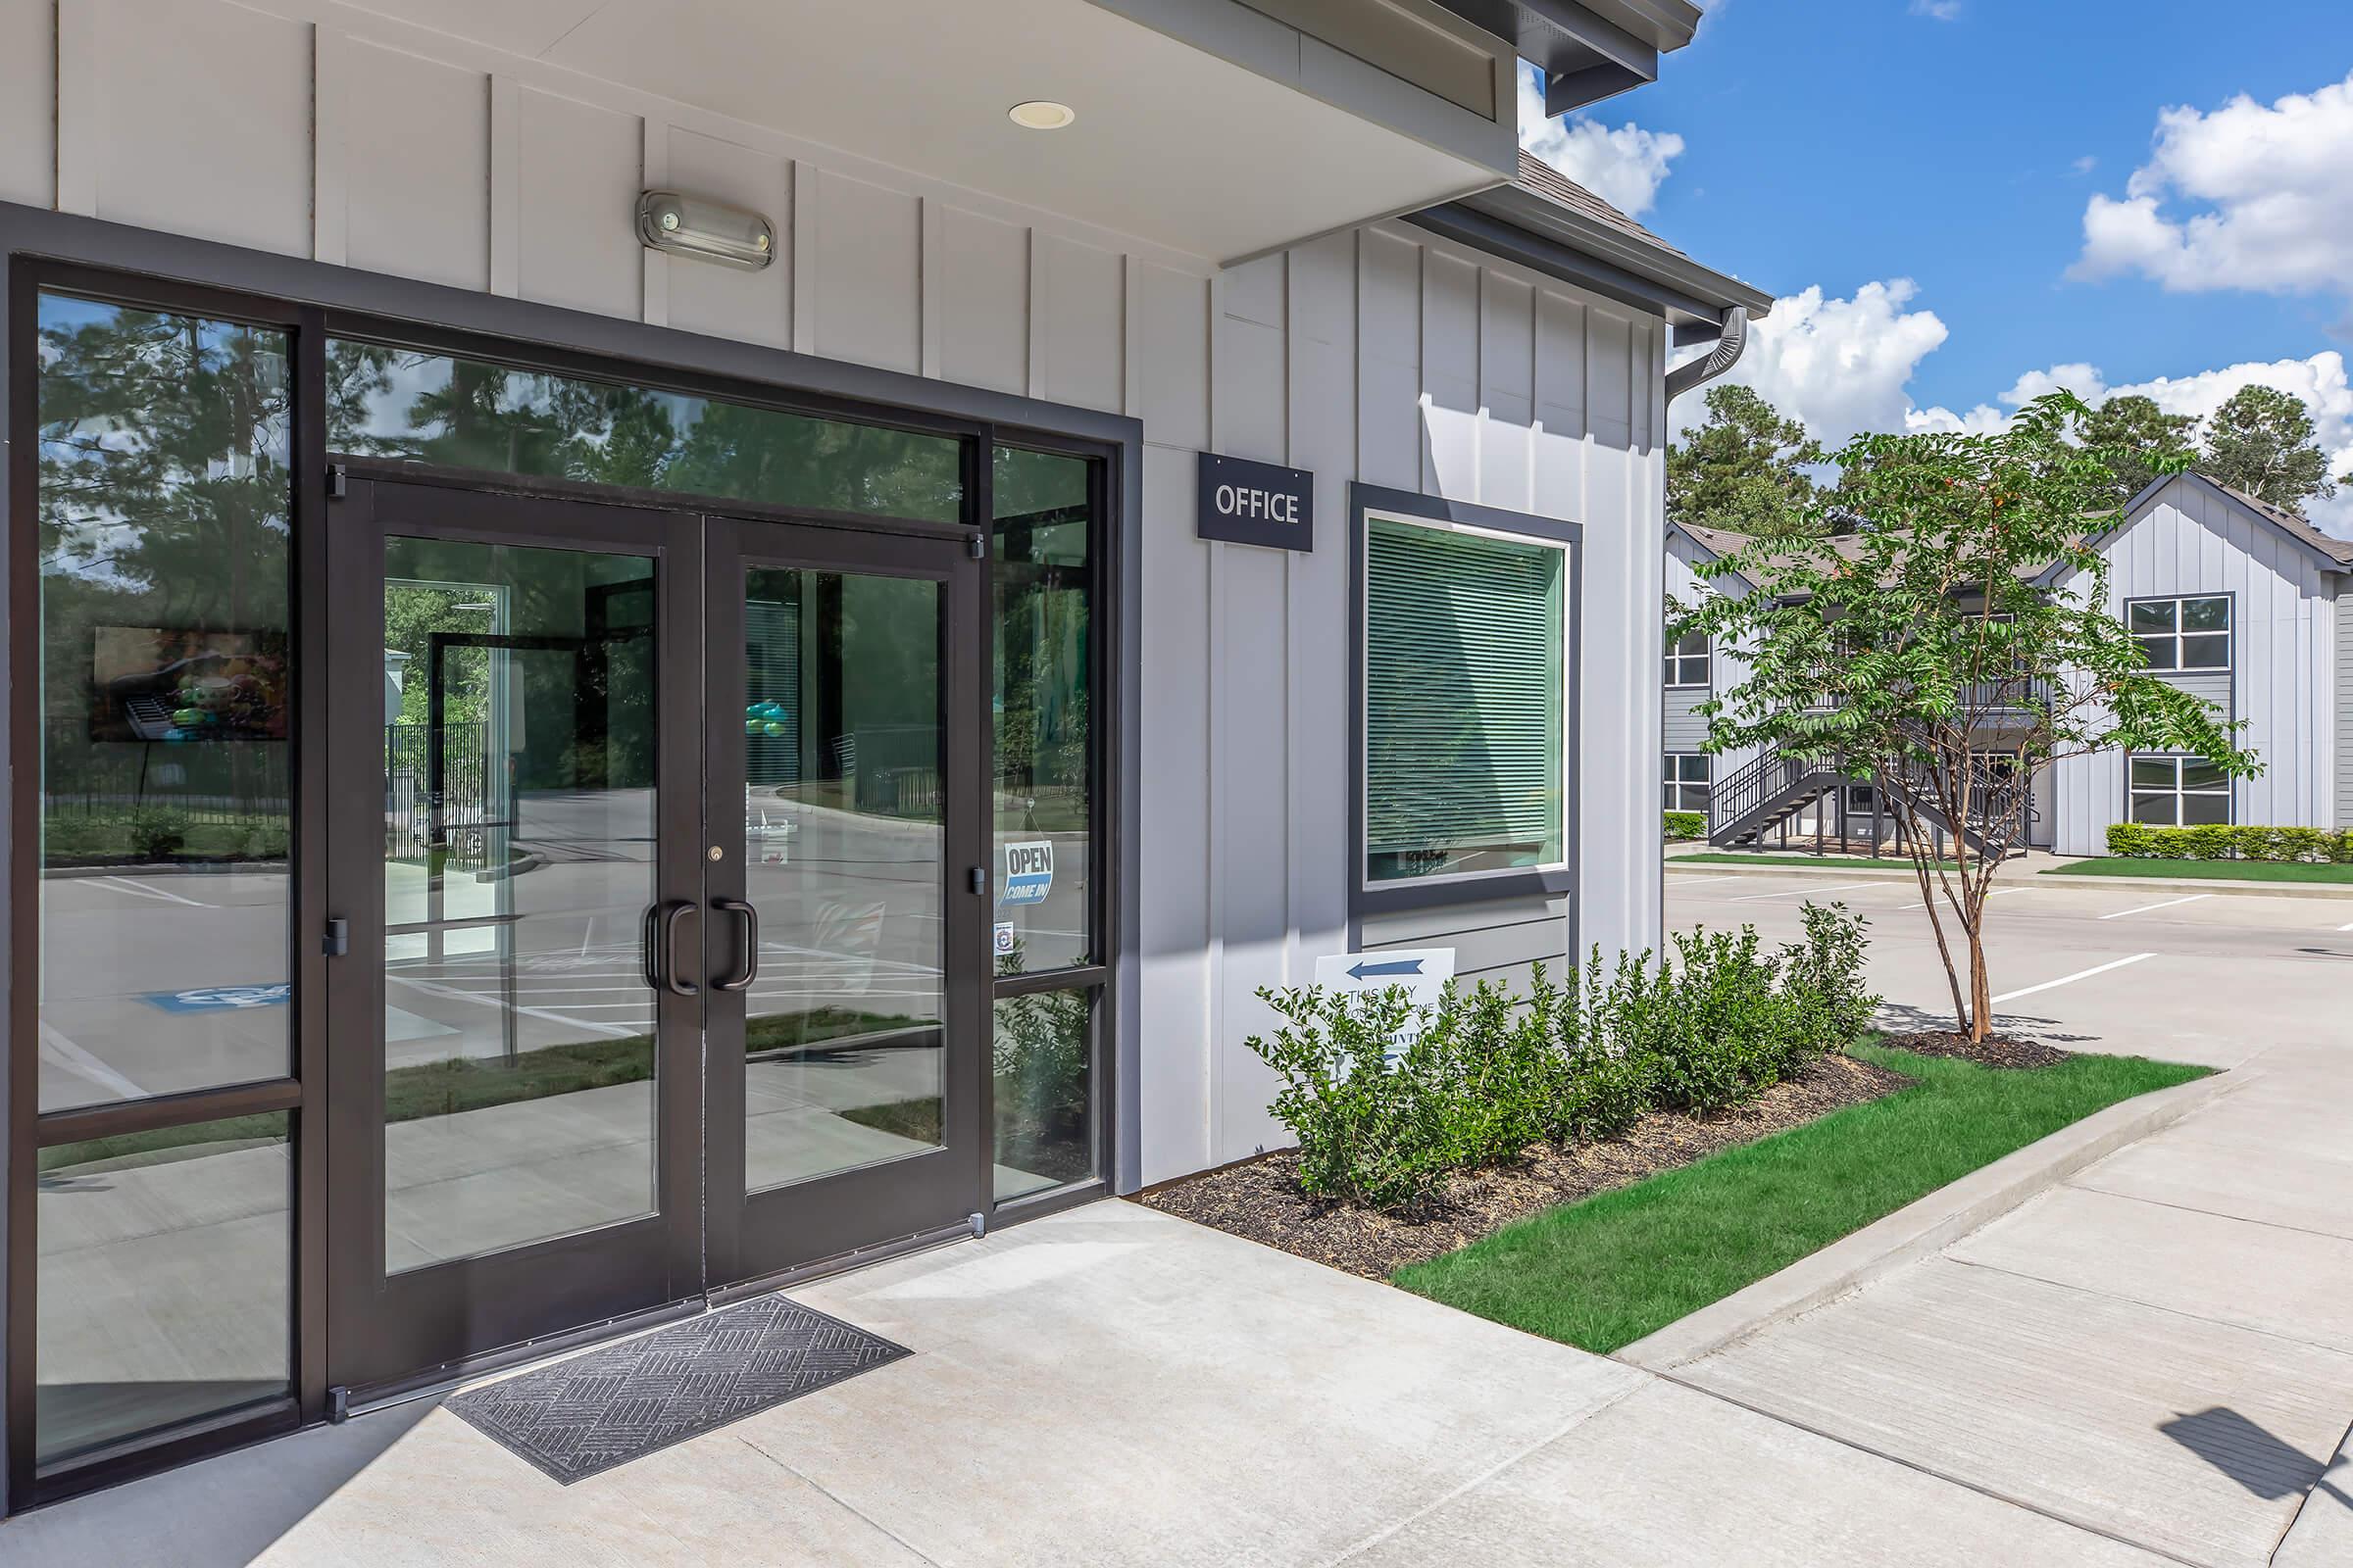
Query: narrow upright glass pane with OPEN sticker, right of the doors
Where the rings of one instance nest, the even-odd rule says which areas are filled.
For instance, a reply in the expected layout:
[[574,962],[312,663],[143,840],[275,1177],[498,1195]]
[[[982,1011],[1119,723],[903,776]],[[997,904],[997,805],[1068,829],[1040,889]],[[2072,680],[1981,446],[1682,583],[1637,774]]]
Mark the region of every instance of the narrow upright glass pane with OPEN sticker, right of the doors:
[[1082,458],[1000,447],[993,468],[995,964],[1096,961],[1094,510]]

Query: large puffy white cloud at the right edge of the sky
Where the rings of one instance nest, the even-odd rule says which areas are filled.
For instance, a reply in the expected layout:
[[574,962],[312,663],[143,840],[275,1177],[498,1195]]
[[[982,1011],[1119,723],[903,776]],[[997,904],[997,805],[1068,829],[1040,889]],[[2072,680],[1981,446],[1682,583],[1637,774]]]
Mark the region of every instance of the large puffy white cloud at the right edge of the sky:
[[[2094,195],[2073,277],[2139,273],[2172,292],[2348,292],[2353,280],[2353,73],[2271,106],[2158,113],[2125,197]],[[2179,202],[2186,216],[2167,207]]]

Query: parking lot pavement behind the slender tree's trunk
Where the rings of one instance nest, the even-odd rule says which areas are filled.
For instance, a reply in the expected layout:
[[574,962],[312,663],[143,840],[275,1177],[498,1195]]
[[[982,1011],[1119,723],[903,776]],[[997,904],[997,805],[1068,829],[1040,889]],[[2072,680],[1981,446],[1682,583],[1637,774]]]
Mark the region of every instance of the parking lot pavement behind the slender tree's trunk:
[[[1807,903],[1871,922],[1889,1027],[1948,1027],[1951,987],[1908,877],[1666,877],[1666,929],[1800,931]],[[1958,926],[1946,919],[1948,940]],[[2002,884],[1986,914],[1998,1023],[2071,1051],[2233,1067],[2273,1044],[2353,1065],[2353,896],[2224,898],[2179,889]]]

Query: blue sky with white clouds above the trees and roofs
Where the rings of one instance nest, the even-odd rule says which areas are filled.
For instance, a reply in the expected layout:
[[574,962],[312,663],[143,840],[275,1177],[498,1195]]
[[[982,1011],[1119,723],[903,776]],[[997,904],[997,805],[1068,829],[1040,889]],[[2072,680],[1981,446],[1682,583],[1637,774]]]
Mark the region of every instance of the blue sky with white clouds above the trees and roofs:
[[2353,0],[1713,0],[1657,85],[1525,120],[1786,296],[1748,374],[1826,435],[2261,378],[2353,465]]

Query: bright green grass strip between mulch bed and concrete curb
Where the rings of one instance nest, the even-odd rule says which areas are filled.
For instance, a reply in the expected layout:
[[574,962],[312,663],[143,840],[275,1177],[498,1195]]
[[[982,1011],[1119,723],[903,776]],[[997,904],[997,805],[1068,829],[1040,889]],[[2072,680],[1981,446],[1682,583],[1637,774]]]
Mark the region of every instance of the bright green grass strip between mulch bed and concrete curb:
[[2071,1121],[2207,1072],[2137,1056],[2024,1072],[1854,1056],[1918,1084],[1520,1220],[1395,1284],[1607,1354]]

